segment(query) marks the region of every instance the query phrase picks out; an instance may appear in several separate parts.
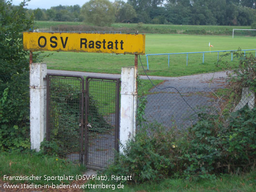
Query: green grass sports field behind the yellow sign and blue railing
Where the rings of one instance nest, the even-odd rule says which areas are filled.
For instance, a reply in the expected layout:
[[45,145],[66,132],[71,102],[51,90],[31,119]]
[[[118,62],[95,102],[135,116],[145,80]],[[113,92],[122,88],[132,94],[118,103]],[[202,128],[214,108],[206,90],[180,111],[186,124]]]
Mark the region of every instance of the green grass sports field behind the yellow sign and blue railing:
[[[209,42],[213,45],[211,51],[256,48],[256,37],[236,36],[232,39],[232,36],[146,34],[146,54],[209,51]],[[50,52],[45,52],[45,54],[48,53]],[[121,67],[134,65],[134,55],[52,53],[44,60],[48,69],[120,74]],[[252,53],[255,55],[255,51]],[[224,54],[220,53],[220,58]],[[202,57],[202,54],[190,54],[188,66],[186,66],[186,54],[170,56],[170,67],[168,67],[168,56],[150,56],[150,70],[147,72],[150,75],[182,76],[222,70],[215,66],[217,53],[206,53],[204,63],[202,63]],[[146,68],[146,57],[141,56],[140,58]],[[231,56],[224,60],[230,61]],[[233,62],[236,62],[236,59],[233,59]],[[142,72],[139,62],[139,73],[143,74]]]

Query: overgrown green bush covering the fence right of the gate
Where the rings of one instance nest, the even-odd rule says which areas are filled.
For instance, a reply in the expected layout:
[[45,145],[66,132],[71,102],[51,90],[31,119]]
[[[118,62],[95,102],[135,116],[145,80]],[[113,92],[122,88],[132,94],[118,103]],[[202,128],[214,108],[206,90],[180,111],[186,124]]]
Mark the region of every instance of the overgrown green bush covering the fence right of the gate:
[[[233,88],[239,86],[256,91],[256,58],[236,56],[240,63],[232,70],[235,75],[230,75],[228,89],[234,97],[238,89]],[[223,99],[233,102],[230,95]],[[143,109],[145,104],[141,105],[139,108]],[[144,123],[144,129],[127,143],[124,154],[106,173],[132,175],[131,182],[145,182],[162,177],[215,178],[219,174],[250,171],[256,166],[256,107],[245,105],[231,113],[227,113],[229,108],[222,108],[219,114],[209,111],[198,114],[197,122],[183,133]]]

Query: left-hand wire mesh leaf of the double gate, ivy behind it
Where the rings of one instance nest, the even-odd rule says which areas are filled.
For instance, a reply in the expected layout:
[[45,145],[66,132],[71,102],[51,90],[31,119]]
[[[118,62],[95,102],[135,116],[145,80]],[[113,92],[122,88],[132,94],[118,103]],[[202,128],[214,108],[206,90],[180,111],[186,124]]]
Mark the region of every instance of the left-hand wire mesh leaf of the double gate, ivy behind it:
[[46,139],[61,158],[82,162],[84,121],[84,78],[59,74],[46,75]]

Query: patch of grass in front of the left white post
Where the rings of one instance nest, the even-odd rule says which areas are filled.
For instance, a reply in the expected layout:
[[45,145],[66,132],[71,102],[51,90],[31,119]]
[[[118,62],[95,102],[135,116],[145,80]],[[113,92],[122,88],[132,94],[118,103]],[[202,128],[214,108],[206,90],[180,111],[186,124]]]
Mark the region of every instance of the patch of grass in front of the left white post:
[[[54,156],[40,155],[35,152],[1,152],[0,153],[0,179],[6,176],[41,176],[40,180],[12,180],[9,183],[34,183],[34,184],[60,184],[57,180],[45,180],[44,176],[75,176],[81,175],[86,168],[80,164],[73,164]],[[73,181],[73,180],[72,180]],[[71,181],[63,180],[63,183]]]

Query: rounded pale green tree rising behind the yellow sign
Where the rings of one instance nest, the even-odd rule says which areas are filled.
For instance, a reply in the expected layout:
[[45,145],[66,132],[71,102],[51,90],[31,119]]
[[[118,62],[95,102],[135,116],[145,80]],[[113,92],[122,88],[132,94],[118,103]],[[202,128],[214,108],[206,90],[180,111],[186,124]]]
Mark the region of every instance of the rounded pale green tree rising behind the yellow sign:
[[115,21],[115,7],[109,0],[90,0],[82,6],[85,22],[110,26]]

